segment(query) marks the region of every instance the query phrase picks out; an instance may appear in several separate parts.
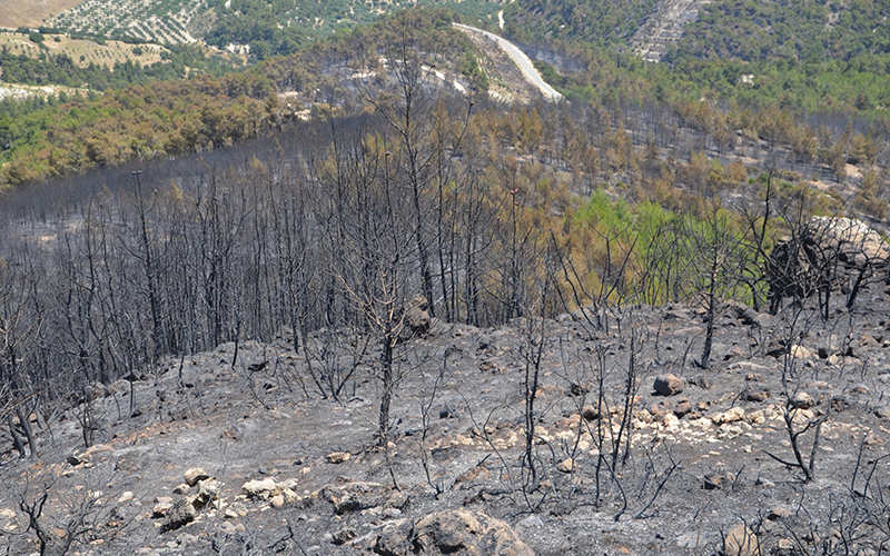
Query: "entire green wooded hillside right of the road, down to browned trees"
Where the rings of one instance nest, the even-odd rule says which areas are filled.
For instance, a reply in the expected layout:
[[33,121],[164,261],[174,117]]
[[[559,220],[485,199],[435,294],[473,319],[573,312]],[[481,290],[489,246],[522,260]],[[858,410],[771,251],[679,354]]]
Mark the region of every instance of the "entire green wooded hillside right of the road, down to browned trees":
[[517,0],[505,31],[573,67],[545,69],[570,98],[704,99],[872,118],[890,106],[888,11],[888,2],[714,1],[682,27],[664,64],[642,63],[630,48],[647,18],[663,17],[649,0]]

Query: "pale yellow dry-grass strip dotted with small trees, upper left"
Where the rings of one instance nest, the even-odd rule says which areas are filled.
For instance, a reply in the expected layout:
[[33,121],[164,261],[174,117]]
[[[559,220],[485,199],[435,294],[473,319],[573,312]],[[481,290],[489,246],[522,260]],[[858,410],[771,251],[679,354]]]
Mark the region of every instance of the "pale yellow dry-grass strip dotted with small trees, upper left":
[[[0,0],[0,2],[4,0]],[[59,39],[59,42],[56,42],[56,38]],[[0,47],[3,46],[13,54],[27,54],[34,58],[40,54],[40,48],[19,33],[0,32]],[[78,66],[86,67],[90,62],[95,62],[109,68],[113,67],[116,62],[128,59],[138,61],[142,66],[151,64],[160,61],[160,53],[166,50],[158,44],[129,44],[116,40],[109,40],[102,46],[89,40],[73,40],[63,34],[47,36],[43,46],[51,54],[66,53],[70,56]],[[142,49],[141,56],[134,53],[134,49],[137,47]]]

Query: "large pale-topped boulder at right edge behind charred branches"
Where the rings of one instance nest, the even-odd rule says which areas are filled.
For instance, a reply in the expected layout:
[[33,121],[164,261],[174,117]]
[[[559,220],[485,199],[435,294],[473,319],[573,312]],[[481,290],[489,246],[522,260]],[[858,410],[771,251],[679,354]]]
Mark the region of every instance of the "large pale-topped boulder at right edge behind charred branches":
[[871,275],[888,261],[890,246],[861,221],[814,216],[770,255],[770,312],[779,310],[784,297],[805,299],[819,290],[840,289],[852,277]]

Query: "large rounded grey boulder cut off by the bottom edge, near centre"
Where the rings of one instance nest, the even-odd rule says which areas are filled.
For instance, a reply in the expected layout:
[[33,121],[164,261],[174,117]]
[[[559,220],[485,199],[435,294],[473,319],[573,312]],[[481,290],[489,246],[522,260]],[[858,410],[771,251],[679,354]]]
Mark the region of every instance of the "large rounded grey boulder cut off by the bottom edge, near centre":
[[382,556],[534,556],[510,525],[466,509],[438,512],[416,524],[395,522],[380,532],[374,552]]

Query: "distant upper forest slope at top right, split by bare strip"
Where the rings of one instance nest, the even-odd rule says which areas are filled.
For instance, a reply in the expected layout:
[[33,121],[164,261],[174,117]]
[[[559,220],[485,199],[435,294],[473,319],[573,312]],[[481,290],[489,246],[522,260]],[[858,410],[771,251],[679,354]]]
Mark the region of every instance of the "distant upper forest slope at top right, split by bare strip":
[[[517,0],[505,10],[508,34],[524,42],[627,47],[653,14],[651,0]],[[671,59],[848,61],[887,53],[887,2],[856,0],[721,0],[686,23]]]

